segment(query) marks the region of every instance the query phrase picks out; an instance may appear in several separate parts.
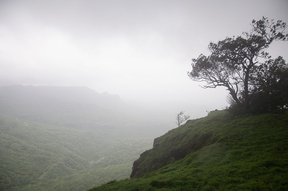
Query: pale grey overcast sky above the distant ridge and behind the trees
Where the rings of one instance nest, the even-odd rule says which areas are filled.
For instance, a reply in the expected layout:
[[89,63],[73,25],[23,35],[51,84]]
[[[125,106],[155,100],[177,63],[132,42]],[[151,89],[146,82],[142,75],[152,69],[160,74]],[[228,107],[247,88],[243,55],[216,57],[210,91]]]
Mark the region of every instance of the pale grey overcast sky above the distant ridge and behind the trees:
[[[0,85],[87,86],[125,100],[225,106],[225,89],[191,81],[210,41],[262,16],[288,22],[288,1],[0,1]],[[287,42],[272,57],[288,61]]]

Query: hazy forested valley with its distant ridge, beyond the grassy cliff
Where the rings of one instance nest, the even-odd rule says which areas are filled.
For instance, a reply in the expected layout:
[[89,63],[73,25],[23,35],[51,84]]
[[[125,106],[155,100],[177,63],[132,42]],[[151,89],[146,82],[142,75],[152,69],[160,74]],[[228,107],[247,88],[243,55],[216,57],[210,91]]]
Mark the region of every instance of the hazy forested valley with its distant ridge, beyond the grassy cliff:
[[0,87],[0,115],[0,190],[86,190],[127,178],[170,129],[86,87]]

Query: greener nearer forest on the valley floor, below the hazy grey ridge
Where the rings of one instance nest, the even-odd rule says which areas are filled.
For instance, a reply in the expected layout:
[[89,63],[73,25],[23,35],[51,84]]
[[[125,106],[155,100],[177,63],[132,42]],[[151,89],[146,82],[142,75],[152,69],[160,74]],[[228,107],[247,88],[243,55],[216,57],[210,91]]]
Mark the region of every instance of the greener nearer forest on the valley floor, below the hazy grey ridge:
[[153,141],[7,116],[0,117],[0,129],[0,190],[86,190],[123,179]]

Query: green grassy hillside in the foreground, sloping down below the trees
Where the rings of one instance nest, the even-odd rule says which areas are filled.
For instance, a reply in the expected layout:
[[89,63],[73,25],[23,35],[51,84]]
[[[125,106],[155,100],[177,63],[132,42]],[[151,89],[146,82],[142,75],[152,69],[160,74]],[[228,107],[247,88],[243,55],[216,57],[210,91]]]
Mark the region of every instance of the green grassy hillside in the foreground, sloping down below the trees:
[[169,147],[171,137],[185,134],[186,138],[178,142],[184,145],[189,137],[210,133],[211,139],[200,150],[143,178],[111,181],[89,191],[288,190],[288,115],[262,114],[235,120],[224,115],[224,111],[217,111],[192,120],[160,142]]

